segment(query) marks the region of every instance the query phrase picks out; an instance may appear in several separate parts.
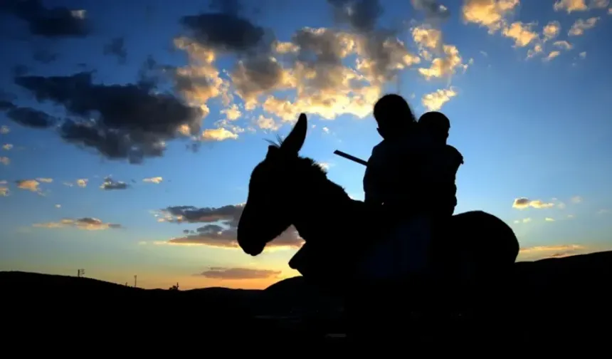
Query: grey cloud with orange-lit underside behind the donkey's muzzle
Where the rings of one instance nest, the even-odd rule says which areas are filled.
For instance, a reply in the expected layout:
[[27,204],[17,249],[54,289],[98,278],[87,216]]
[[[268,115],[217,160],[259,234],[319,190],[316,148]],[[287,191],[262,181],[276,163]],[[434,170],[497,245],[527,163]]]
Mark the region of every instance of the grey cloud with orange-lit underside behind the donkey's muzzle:
[[[204,226],[193,231],[184,231],[179,236],[164,244],[206,245],[222,248],[239,248],[236,239],[238,221],[244,204],[227,205],[218,208],[199,208],[193,206],[175,206],[162,209],[156,214],[157,222],[170,223],[203,223]],[[294,227],[288,228],[269,247],[300,248],[304,240]]]

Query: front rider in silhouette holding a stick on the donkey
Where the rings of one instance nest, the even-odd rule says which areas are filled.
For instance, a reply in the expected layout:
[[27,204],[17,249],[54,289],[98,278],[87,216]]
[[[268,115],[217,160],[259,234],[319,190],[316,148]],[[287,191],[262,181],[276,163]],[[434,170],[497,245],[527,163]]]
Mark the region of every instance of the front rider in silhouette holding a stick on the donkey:
[[[420,272],[426,268],[431,215],[421,194],[424,156],[433,150],[433,141],[419,130],[406,100],[400,95],[384,95],[374,105],[374,118],[383,140],[374,147],[364,176],[366,204],[383,205],[391,219],[395,248],[380,253],[375,268],[383,271],[389,262],[401,265],[400,272]],[[403,247],[403,249],[397,248]],[[391,251],[391,249],[389,249]],[[389,261],[389,256],[407,254],[408,258]],[[376,256],[375,256],[376,257]],[[397,258],[397,257],[396,257]],[[390,270],[391,275],[398,269]],[[387,275],[389,272],[387,272]]]

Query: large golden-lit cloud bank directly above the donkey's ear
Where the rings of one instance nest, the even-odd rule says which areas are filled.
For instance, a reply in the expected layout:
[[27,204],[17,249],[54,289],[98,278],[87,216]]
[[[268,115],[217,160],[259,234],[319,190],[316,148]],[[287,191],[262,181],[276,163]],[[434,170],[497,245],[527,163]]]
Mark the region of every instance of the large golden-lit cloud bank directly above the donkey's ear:
[[[258,125],[265,130],[292,123],[301,112],[326,119],[342,114],[364,118],[384,84],[420,58],[394,31],[374,27],[381,13],[378,1],[328,4],[342,31],[305,27],[289,41],[236,13],[185,16],[181,24],[186,33],[175,43],[188,53],[190,63],[177,72],[183,84],[179,92],[202,107],[221,98],[232,108],[233,99],[240,98],[246,110],[263,110]],[[218,76],[216,60],[231,55],[238,56],[238,62],[225,80]],[[354,66],[345,63],[349,56],[357,56]],[[215,125],[235,135],[243,130],[230,127],[231,121]]]

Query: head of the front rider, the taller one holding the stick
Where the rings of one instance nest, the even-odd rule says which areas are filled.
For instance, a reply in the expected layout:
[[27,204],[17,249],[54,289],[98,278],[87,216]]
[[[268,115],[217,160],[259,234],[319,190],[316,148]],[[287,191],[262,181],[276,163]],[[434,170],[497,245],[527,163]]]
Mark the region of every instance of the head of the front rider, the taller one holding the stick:
[[384,95],[374,104],[374,119],[380,135],[389,135],[409,130],[416,123],[410,105],[400,95]]

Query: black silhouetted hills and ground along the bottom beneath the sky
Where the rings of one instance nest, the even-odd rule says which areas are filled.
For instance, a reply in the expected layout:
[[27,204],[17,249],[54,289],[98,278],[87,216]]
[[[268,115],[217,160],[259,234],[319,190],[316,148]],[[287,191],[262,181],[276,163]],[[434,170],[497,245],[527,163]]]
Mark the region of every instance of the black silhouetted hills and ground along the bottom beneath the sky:
[[[500,318],[506,319],[478,330],[505,338],[519,353],[533,348],[554,352],[604,348],[612,338],[611,279],[612,251],[519,262],[512,294],[495,305]],[[210,353],[219,345],[224,353],[258,353],[288,345],[308,349],[347,346],[342,302],[317,293],[302,277],[280,281],[263,291],[170,291],[5,271],[0,272],[0,286],[3,342],[20,347],[30,343],[31,350],[46,353],[79,353],[79,348],[91,343],[122,351],[159,351],[159,355],[168,350],[191,353],[191,347],[196,350],[193,353]],[[463,333],[464,343],[480,348],[490,345],[482,343],[478,331],[473,331],[478,325],[469,319],[439,322],[436,328],[445,334],[430,335],[430,343],[438,350],[453,350],[444,348],[453,332]],[[409,331],[408,323],[397,323],[392,317],[388,325]],[[500,353],[500,349],[489,353]],[[86,356],[91,355],[88,351]]]

